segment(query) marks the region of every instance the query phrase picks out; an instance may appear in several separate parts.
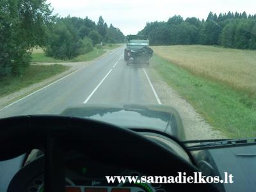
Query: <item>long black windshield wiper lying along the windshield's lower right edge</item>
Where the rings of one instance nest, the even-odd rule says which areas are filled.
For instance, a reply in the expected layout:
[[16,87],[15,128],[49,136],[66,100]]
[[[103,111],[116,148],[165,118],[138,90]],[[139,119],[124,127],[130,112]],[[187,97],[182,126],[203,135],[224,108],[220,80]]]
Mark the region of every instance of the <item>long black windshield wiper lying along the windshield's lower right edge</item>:
[[[227,147],[241,147],[245,145],[256,145],[256,138],[245,138],[237,140],[191,140],[182,142],[186,145],[188,150],[204,150],[211,148],[227,148]],[[189,145],[200,143],[198,145]]]

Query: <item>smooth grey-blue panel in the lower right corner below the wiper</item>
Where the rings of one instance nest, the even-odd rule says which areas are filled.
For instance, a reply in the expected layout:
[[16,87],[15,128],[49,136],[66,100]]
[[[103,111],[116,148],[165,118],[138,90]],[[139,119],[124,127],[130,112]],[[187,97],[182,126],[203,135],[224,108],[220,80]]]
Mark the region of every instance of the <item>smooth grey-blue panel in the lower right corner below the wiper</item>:
[[[224,178],[227,172],[234,176],[232,184],[218,184],[220,191],[239,192],[252,191],[256,189],[256,146],[214,148],[202,150],[195,156],[196,161],[206,161],[212,166],[200,168],[205,175],[220,175]],[[205,170],[207,169],[207,170]]]

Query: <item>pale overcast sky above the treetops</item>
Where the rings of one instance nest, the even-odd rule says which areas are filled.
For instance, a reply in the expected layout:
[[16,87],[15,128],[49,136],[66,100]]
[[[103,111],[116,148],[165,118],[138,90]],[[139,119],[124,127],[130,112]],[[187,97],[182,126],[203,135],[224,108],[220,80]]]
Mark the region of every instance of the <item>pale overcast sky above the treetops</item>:
[[147,22],[166,21],[173,15],[206,19],[209,12],[256,13],[255,0],[47,0],[54,13],[61,17],[85,18],[88,16],[97,23],[102,15],[104,21],[119,28],[124,35],[136,34]]

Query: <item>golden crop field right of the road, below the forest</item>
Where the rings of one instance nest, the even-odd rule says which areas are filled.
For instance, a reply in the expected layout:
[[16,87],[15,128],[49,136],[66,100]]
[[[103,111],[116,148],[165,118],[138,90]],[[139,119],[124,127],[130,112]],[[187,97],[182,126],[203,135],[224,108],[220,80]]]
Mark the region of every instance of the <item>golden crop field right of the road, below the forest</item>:
[[236,90],[256,93],[256,51],[205,45],[153,46],[152,49],[158,56],[193,74],[228,84]]

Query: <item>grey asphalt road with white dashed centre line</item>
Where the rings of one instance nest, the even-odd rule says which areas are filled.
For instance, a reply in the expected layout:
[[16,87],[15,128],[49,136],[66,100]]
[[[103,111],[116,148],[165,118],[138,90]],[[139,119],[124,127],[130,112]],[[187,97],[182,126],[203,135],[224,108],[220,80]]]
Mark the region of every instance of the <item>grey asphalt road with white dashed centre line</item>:
[[0,109],[0,118],[60,114],[83,103],[160,104],[147,76],[147,64],[126,65],[124,47],[73,74]]

